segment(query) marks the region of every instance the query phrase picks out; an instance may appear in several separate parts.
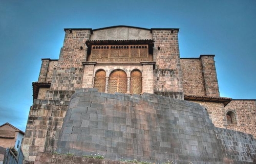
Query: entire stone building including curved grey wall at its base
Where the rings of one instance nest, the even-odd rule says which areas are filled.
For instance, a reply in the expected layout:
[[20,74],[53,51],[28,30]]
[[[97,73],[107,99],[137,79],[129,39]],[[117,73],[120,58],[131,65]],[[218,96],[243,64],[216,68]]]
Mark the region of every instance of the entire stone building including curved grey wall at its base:
[[[33,82],[28,160],[57,151],[155,162],[256,161],[255,100],[220,97],[215,55],[181,58],[179,29],[64,31],[59,59],[42,59]],[[246,136],[250,150],[231,136]],[[221,155],[228,148],[237,153]]]

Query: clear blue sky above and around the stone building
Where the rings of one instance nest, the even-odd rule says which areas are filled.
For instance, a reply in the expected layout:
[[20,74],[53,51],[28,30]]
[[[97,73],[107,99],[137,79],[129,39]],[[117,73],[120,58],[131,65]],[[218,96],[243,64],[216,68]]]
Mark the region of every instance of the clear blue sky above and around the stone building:
[[256,1],[0,0],[0,124],[24,130],[41,58],[58,59],[63,28],[179,28],[181,57],[215,54],[222,97],[256,99]]

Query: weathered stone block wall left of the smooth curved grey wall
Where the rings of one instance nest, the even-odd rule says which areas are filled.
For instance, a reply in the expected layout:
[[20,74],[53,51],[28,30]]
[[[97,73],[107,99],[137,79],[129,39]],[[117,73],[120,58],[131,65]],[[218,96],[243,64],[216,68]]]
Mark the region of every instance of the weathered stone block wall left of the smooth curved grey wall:
[[34,100],[30,108],[23,152],[26,160],[35,160],[37,152],[53,152],[69,102]]

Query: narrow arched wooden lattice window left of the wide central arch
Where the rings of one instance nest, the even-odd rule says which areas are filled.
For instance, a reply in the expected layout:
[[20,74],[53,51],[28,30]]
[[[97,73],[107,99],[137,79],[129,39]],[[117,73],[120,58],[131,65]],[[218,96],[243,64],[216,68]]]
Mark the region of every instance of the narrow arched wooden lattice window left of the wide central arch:
[[94,88],[97,88],[99,92],[105,91],[106,85],[106,72],[103,70],[97,71],[95,74]]

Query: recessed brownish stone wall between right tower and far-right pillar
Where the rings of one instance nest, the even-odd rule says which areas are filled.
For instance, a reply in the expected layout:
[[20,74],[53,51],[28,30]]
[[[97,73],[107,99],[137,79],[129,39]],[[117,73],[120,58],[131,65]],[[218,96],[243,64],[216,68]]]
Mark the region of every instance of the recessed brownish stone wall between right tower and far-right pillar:
[[184,95],[205,96],[202,63],[199,58],[181,58]]

